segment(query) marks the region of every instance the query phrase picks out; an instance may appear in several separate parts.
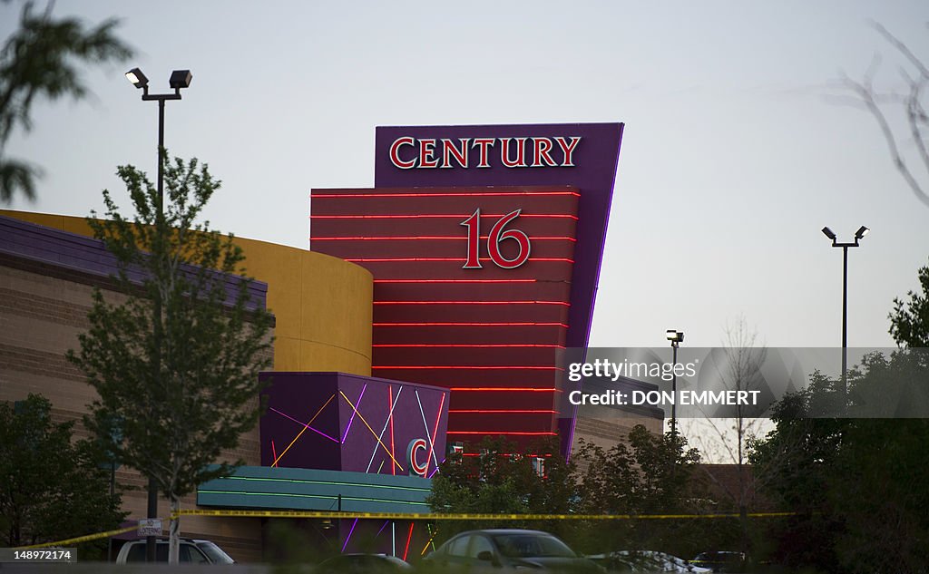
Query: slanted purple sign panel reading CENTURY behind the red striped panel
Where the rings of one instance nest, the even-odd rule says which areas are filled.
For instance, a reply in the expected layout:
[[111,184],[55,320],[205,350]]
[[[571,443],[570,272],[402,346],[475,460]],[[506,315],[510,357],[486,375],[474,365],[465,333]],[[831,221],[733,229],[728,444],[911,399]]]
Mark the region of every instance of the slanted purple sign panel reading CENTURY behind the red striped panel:
[[580,189],[567,346],[586,347],[623,124],[378,127],[375,188]]

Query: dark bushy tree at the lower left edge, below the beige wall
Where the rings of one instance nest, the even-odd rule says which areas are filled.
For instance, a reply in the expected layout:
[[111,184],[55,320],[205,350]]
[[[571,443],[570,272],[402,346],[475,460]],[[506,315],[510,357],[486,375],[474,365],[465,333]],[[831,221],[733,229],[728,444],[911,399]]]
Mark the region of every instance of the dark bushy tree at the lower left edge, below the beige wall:
[[36,544],[116,528],[120,496],[88,441],[72,443],[73,422],[53,423],[39,395],[0,402],[0,543]]

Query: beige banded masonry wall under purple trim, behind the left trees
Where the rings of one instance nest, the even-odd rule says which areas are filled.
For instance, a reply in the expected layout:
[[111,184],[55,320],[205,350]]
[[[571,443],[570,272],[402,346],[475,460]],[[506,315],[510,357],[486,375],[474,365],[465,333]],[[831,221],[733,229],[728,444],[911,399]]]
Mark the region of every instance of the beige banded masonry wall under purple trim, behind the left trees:
[[[85,383],[84,375],[65,359],[65,353],[77,348],[78,333],[89,326],[87,311],[92,291],[89,284],[52,277],[41,268],[0,266],[0,400],[20,400],[30,393],[43,395],[52,403],[56,423],[77,423],[76,438],[87,437],[81,419],[87,412],[86,405],[97,395]],[[108,292],[106,296],[120,295]],[[260,464],[257,426],[240,437],[237,449],[225,450],[222,457]],[[128,517],[145,517],[147,481],[126,467],[116,471],[116,481],[121,488],[138,488],[124,490],[123,508]],[[182,508],[193,508],[195,503],[195,496],[190,496]],[[161,502],[159,515],[169,515],[167,502]],[[236,560],[261,559],[261,527],[257,519],[184,517],[181,532],[216,541]]]

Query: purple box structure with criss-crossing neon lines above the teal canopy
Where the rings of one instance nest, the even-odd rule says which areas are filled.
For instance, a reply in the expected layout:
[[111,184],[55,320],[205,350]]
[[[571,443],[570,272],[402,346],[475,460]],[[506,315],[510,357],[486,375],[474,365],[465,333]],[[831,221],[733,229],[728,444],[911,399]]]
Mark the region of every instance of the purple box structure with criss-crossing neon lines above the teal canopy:
[[263,466],[429,477],[445,460],[448,389],[344,372],[261,378]]

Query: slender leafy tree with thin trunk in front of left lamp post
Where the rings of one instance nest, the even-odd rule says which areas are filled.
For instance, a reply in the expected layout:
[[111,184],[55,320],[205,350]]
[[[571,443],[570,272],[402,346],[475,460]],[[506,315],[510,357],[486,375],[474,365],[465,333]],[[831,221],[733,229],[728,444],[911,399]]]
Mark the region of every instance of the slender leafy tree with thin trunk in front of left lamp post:
[[[238,276],[243,256],[232,237],[195,223],[219,182],[196,160],[169,163],[163,152],[163,162],[164,213],[145,174],[124,166],[134,217],[104,190],[106,219],[88,219],[118,260],[124,296],[95,292],[90,329],[69,359],[99,395],[85,424],[108,441],[120,421],[123,440],[107,447],[153,479],[174,513],[181,497],[242,463],[219,458],[258,421],[273,318]],[[175,519],[171,561],[177,534]]]

